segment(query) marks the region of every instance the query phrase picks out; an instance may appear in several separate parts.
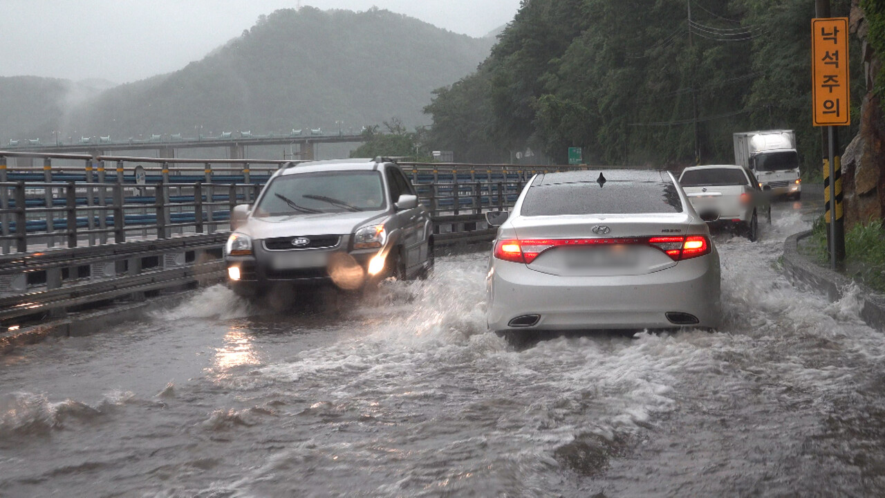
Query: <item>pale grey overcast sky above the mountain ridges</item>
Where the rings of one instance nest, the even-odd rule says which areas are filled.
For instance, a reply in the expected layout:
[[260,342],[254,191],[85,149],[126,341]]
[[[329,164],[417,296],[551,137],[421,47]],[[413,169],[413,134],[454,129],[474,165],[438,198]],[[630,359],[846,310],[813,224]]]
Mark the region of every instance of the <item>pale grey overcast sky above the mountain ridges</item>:
[[[322,10],[377,6],[483,36],[520,0],[302,0]],[[0,76],[133,82],[169,73],[297,0],[0,0]]]

